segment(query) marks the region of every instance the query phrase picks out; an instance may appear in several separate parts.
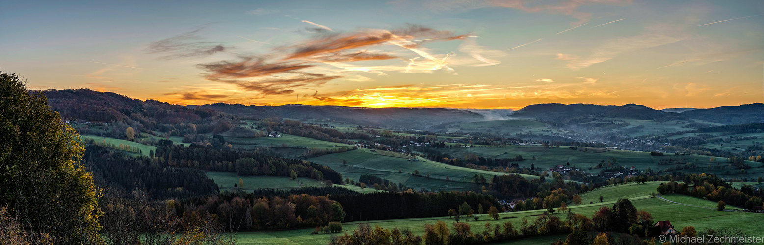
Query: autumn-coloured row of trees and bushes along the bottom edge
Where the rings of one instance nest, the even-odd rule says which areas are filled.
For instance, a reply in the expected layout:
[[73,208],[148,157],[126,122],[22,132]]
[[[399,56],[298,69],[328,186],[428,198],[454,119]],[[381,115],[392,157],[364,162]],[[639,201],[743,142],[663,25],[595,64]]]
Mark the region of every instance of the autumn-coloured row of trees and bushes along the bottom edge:
[[[452,227],[448,227],[444,221],[437,221],[435,224],[425,225],[425,233],[421,239],[410,235],[406,230],[387,230],[379,226],[371,229],[371,225],[361,224],[350,234],[331,237],[329,244],[479,244],[552,234],[569,234],[565,240],[567,244],[591,244],[600,237],[612,244],[641,244],[643,242],[639,237],[657,236],[659,234],[655,232],[660,232],[659,227],[652,227],[652,214],[637,211],[627,199],[618,200],[613,208],[601,208],[591,219],[584,214],[572,212],[565,215],[567,218],[563,221],[559,215],[545,212],[538,215],[535,221],[523,218],[519,226],[507,221],[495,225],[489,222],[474,225],[456,222]],[[493,218],[497,219],[499,215],[494,215]],[[478,227],[479,230],[473,230],[473,227]],[[597,235],[597,231],[604,234]],[[554,244],[562,244],[562,241]]]

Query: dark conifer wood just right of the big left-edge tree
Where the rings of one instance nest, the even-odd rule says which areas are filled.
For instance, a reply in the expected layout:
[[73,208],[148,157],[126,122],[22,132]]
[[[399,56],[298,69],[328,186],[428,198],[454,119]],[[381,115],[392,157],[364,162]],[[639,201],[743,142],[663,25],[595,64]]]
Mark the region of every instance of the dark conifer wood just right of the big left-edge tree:
[[167,167],[157,158],[128,156],[96,145],[86,147],[84,165],[95,184],[122,192],[141,190],[151,198],[190,198],[219,192],[218,185],[198,169]]

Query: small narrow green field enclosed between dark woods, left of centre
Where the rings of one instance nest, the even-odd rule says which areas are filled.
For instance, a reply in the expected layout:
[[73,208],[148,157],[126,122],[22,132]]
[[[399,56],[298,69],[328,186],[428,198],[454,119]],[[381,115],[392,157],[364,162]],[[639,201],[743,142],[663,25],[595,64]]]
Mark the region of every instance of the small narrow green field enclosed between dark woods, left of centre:
[[254,189],[299,189],[302,187],[325,186],[322,182],[310,178],[297,178],[292,180],[289,177],[280,176],[238,176],[235,172],[205,171],[207,177],[215,181],[220,190],[232,190],[234,184],[238,185],[238,180],[244,181],[246,192],[252,192]]

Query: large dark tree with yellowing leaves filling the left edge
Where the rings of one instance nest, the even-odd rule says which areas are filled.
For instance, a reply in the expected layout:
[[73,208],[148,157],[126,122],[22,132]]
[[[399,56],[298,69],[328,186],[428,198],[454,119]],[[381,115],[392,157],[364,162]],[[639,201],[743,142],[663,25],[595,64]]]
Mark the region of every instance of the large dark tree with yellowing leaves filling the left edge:
[[99,243],[100,190],[80,163],[83,143],[41,93],[0,73],[0,206],[53,243]]

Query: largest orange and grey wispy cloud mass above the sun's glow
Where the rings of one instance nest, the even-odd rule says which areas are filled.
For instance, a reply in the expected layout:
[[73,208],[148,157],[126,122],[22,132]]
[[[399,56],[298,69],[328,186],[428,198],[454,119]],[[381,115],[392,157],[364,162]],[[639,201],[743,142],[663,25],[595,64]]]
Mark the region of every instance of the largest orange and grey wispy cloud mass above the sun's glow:
[[[433,54],[424,47],[430,42],[465,40],[466,34],[439,31],[418,25],[409,25],[392,31],[360,29],[351,32],[324,32],[315,34],[295,44],[274,47],[272,52],[261,56],[241,56],[239,60],[222,60],[199,64],[206,71],[206,79],[235,85],[239,89],[258,95],[284,95],[296,89],[315,89],[334,79],[364,82],[364,76],[352,73],[376,73],[385,71],[404,73],[432,73],[437,69],[452,71],[447,65],[449,54]],[[416,42],[415,42],[416,41]],[[385,45],[393,44],[393,45]],[[402,50],[413,53],[406,56]],[[394,49],[394,50],[390,50]],[[482,55],[489,53],[477,44],[469,43],[460,50],[469,53],[481,64],[498,63]],[[481,58],[481,59],[480,59]],[[359,66],[354,63],[391,62],[399,64]],[[403,64],[401,64],[403,63]],[[460,64],[466,64],[459,61]]]

